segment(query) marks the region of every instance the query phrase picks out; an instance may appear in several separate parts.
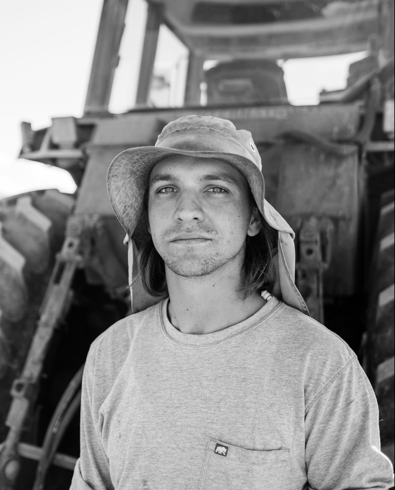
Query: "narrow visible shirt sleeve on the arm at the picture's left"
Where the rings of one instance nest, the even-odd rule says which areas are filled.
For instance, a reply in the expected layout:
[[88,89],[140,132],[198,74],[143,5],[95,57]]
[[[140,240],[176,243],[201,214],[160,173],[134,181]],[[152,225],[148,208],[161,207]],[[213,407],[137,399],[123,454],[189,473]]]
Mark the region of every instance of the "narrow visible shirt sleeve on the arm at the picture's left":
[[113,490],[109,462],[100,439],[98,414],[93,413],[93,366],[88,359],[82,377],[80,457],[70,490]]

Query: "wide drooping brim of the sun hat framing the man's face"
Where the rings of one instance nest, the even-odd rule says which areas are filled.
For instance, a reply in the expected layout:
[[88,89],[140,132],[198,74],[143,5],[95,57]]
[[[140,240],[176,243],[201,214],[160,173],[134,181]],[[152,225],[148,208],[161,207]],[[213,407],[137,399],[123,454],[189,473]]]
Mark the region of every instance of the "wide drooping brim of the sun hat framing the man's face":
[[[138,224],[144,223],[145,226],[147,224],[147,218],[142,216],[143,199],[152,169],[164,158],[174,155],[217,158],[235,167],[246,178],[265,221],[272,228],[288,232],[294,238],[292,228],[265,200],[262,172],[250,159],[234,153],[190,151],[167,147],[129,148],[116,155],[110,164],[107,173],[108,196],[116,217],[129,237],[138,232],[140,227]],[[137,239],[136,242],[138,244],[139,240]]]

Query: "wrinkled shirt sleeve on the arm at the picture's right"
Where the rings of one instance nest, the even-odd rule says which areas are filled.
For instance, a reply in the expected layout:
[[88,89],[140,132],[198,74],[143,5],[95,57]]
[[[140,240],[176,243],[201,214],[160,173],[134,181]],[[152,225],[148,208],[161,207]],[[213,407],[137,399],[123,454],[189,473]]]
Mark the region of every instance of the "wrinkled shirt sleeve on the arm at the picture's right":
[[305,461],[309,490],[394,485],[392,464],[380,451],[376,397],[356,357],[306,409]]

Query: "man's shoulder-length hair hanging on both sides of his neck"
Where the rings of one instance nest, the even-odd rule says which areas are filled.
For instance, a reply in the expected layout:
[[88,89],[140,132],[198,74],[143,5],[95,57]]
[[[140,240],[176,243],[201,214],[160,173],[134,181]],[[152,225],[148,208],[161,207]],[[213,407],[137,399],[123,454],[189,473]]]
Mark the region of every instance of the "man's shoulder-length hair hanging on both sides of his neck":
[[[256,208],[252,193],[250,203],[251,209]],[[147,199],[144,199],[144,207],[146,204]],[[273,250],[277,247],[277,233],[258,213],[260,231],[254,237],[247,236],[245,241],[244,274],[239,289],[243,299],[264,290],[271,291],[276,280]],[[148,294],[163,296],[167,293],[163,259],[155,248],[151,235],[146,236],[139,245],[137,264],[142,285]]]

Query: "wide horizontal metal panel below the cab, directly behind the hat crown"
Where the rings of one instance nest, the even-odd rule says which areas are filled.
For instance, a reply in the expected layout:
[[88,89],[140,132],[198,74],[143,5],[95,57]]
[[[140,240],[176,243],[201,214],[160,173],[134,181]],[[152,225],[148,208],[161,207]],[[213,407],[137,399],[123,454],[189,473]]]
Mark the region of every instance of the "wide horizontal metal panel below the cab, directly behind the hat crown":
[[360,103],[317,106],[192,107],[140,110],[96,121],[94,145],[154,145],[163,126],[189,114],[229,119],[251,131],[256,144],[274,142],[284,131],[298,129],[332,141],[350,141],[360,125]]

